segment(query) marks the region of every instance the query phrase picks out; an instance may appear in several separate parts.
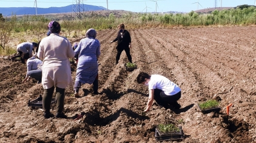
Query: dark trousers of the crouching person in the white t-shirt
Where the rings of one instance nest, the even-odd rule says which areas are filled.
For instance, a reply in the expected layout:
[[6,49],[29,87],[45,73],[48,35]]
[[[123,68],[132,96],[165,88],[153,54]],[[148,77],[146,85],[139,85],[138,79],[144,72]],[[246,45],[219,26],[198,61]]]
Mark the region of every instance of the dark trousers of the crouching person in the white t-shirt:
[[154,89],[154,99],[158,104],[177,104],[177,101],[181,98],[181,92],[178,92],[175,95],[167,96],[164,94],[164,91],[160,89]]

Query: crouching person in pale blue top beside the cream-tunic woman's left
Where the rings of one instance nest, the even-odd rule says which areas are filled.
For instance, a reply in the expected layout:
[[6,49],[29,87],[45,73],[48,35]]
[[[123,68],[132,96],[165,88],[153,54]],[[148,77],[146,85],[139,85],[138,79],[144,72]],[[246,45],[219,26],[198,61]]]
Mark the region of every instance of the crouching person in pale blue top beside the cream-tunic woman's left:
[[41,69],[41,64],[42,61],[37,59],[36,57],[29,57],[29,54],[22,54],[21,56],[22,59],[25,60],[27,63],[27,74],[25,76],[25,81],[29,81],[30,77],[35,78],[38,81],[38,84],[41,83],[42,81],[42,69]]

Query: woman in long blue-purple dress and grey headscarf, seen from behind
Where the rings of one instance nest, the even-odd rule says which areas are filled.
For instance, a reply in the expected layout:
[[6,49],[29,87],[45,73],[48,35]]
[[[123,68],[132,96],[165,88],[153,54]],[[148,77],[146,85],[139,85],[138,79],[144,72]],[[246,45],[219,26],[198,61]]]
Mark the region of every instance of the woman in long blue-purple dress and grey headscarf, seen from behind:
[[[76,68],[76,80],[74,85],[75,97],[80,97],[78,91],[81,84],[92,84],[98,77],[98,62],[97,59],[101,54],[100,43],[96,38],[96,31],[92,28],[87,30],[86,38],[80,40],[78,47],[75,49],[75,56],[78,55],[78,64]],[[98,81],[98,79],[96,79]],[[98,92],[98,84],[97,87]],[[95,91],[95,90],[94,90]]]

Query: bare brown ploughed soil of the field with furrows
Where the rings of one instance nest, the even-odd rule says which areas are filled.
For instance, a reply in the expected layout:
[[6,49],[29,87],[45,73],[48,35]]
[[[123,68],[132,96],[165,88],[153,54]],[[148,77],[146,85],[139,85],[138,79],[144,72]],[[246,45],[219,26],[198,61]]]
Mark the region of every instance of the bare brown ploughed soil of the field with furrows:
[[[100,94],[93,95],[92,85],[85,84],[79,92],[83,97],[74,98],[72,87],[67,88],[68,119],[44,119],[41,108],[27,106],[43,93],[42,85],[35,80],[22,83],[26,66],[1,58],[0,142],[157,142],[155,128],[167,123],[182,126],[185,138],[179,142],[256,142],[255,26],[129,31],[138,68],[126,71],[125,52],[115,65],[116,43],[109,41],[117,31],[98,31]],[[177,83],[181,108],[164,108],[154,101],[143,115],[147,87],[135,83],[141,71]],[[73,80],[75,72],[72,65]],[[213,98],[220,101],[220,112],[201,113],[197,104]],[[234,105],[227,116],[229,103]],[[86,115],[73,121],[80,112]]]

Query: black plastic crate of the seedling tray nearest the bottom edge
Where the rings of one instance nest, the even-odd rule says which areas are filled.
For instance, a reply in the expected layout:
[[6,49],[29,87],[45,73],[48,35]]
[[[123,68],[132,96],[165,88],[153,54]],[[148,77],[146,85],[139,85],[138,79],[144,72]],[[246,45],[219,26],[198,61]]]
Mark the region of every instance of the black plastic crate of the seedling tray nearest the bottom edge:
[[172,133],[161,133],[158,130],[158,127],[155,129],[155,139],[157,141],[175,141],[175,140],[183,140],[184,139],[184,133],[181,128],[179,127],[180,132],[172,132]]

